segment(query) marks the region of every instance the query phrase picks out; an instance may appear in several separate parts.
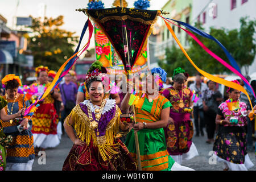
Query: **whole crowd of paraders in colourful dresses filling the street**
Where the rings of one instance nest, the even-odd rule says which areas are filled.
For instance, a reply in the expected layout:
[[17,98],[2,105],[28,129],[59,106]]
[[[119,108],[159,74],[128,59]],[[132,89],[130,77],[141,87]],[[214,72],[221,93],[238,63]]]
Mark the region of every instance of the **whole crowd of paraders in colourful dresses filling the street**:
[[[56,76],[44,66],[35,71],[34,86],[48,88]],[[96,61],[84,82],[78,84],[69,71],[35,113],[23,117],[33,101],[18,92],[19,76],[6,75],[0,97],[0,171],[32,170],[39,151],[58,146],[63,134],[73,142],[64,171],[193,171],[182,163],[199,155],[192,140],[204,136],[204,128],[205,142],[213,144],[225,171],[253,167],[248,152],[253,150],[255,113],[245,94],[228,88],[225,99],[215,82],[205,84],[197,75],[188,86],[188,77],[184,69],[176,68],[171,82],[162,68],[153,68],[137,83],[116,79],[119,92],[106,92],[113,84]],[[241,80],[233,82],[243,86]],[[140,104],[130,105],[134,94]],[[232,100],[231,108],[227,100]],[[125,114],[131,114],[131,122],[122,119]]]

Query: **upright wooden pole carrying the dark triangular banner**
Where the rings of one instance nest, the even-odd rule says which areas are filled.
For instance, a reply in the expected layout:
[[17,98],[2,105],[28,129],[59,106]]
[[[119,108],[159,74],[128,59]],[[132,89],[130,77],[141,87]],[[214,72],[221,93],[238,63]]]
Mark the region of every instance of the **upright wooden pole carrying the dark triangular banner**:
[[[120,6],[123,7],[123,0],[120,0]],[[127,46],[127,59],[128,63],[130,65],[130,55],[129,55],[129,47],[128,47],[128,38],[127,38],[127,30],[126,27],[123,29],[125,33],[125,39],[126,39],[126,46]],[[126,66],[126,65],[124,65]],[[130,71],[131,73],[131,71]],[[127,74],[127,80],[129,79],[129,73]],[[135,116],[135,108],[133,105],[133,113],[134,113],[134,122],[136,123],[136,116]],[[136,154],[137,154],[137,164],[138,164],[138,169],[139,171],[142,171],[141,167],[141,153],[139,152],[139,139],[138,139],[138,133],[134,132],[134,140],[135,140],[135,147],[136,147]]]

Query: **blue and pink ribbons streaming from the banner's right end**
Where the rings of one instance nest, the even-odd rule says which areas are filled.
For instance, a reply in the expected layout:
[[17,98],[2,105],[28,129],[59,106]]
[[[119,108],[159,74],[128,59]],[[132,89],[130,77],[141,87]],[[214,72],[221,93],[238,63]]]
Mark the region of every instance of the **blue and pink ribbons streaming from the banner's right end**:
[[[161,16],[161,17],[163,18],[163,16]],[[177,23],[179,23],[179,24],[182,24],[184,27],[186,27],[186,28],[188,28],[189,30],[195,32],[196,34],[198,34],[198,35],[200,35],[200,36],[203,36],[204,38],[208,38],[208,39],[213,40],[214,42],[216,42],[216,43],[223,49],[223,51],[225,52],[226,56],[227,56],[228,59],[229,59],[230,64],[233,66],[233,68],[230,69],[230,65],[228,66],[228,64],[227,64],[225,61],[223,61],[222,59],[220,59],[220,57],[218,57],[218,56],[216,56],[216,55],[213,56],[214,53],[211,52],[210,55],[213,56],[214,59],[216,59],[216,57],[218,57],[218,58],[219,58],[219,59],[217,59],[218,61],[221,60],[220,62],[222,62],[222,64],[223,64],[225,67],[227,67],[228,69],[230,69],[232,72],[236,73],[237,76],[241,77],[241,79],[242,79],[243,82],[245,83],[246,88],[250,91],[251,94],[253,94],[254,98],[256,98],[253,88],[251,87],[249,81],[247,81],[247,79],[242,75],[241,70],[240,70],[240,68],[239,68],[239,66],[238,66],[238,64],[237,64],[237,62],[236,62],[236,60],[234,60],[234,58],[232,57],[232,55],[230,55],[230,53],[228,52],[228,50],[227,50],[216,38],[214,38],[212,35],[209,35],[209,34],[203,32],[203,31],[201,31],[201,30],[199,30],[199,29],[197,29],[197,28],[191,26],[191,25],[188,24],[188,23],[180,22],[179,20],[175,20],[175,19],[171,19],[171,18],[163,18],[163,19],[166,19],[167,21],[168,21],[168,19],[173,20],[173,21],[175,21],[175,22],[177,22]],[[168,22],[170,22],[170,21],[168,21]],[[172,22],[171,22],[171,23],[172,23]],[[172,23],[172,24],[174,24],[174,23]],[[176,24],[175,24],[175,25],[176,25]],[[177,25],[176,25],[176,26],[177,26]],[[181,27],[180,27],[180,28],[181,28]],[[182,28],[182,29],[183,29],[183,28]],[[183,30],[184,30],[184,29],[183,29]],[[187,33],[189,32],[189,31],[187,31],[187,30],[185,30],[185,31],[186,31]],[[189,34],[189,33],[190,33],[190,34]],[[192,34],[191,32],[189,32],[189,33],[188,33],[189,35]],[[192,34],[192,35],[193,35],[193,34]],[[192,36],[192,35],[191,35],[191,36]],[[192,38],[194,38],[194,37],[196,38],[195,35],[192,36]],[[196,38],[196,39],[197,39],[197,38]],[[198,40],[198,39],[197,39],[197,40]],[[196,40],[196,41],[197,41],[197,40]],[[199,43],[199,42],[197,42],[197,43]],[[203,44],[203,43],[201,43],[201,44]],[[200,46],[201,46],[201,44],[200,44]],[[203,47],[203,48],[204,48],[204,47]],[[209,50],[209,49],[208,49],[208,50]],[[206,51],[206,49],[205,49],[205,51]],[[207,52],[208,52],[208,51],[207,51]],[[208,52],[208,53],[209,53],[209,52]],[[212,55],[212,54],[213,54],[213,55]]]

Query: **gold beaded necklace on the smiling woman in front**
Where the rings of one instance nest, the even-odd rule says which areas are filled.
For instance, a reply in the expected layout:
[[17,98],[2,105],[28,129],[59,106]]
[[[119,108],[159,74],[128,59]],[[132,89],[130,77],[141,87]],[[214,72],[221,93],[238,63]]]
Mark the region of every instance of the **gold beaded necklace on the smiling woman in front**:
[[[94,111],[95,111],[95,120],[96,121],[94,121],[93,120],[93,117],[92,117],[92,110],[91,110],[91,108],[90,108],[90,103],[91,103],[92,101],[90,101],[89,102],[89,106],[88,106],[88,116],[89,116],[89,119],[90,119],[90,128],[91,129],[93,129],[93,130],[95,130],[95,129],[97,129],[97,133],[96,133],[96,135],[98,136],[98,135],[100,135],[100,132],[98,131],[98,121],[100,121],[100,118],[101,118],[101,113],[102,113],[102,110],[104,109],[104,106],[105,106],[105,104],[106,104],[106,101],[102,101],[101,102],[101,106],[100,106],[100,109],[95,109]],[[94,105],[93,105],[94,106]],[[94,106],[94,108],[96,108],[95,106]]]

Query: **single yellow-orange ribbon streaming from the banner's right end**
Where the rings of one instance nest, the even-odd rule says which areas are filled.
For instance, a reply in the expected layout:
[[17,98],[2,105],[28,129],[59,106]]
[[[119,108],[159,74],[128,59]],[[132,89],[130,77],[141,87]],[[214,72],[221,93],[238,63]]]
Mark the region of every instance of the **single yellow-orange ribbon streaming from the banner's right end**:
[[172,36],[174,37],[175,41],[177,42],[177,44],[179,45],[181,51],[184,53],[184,55],[187,57],[187,59],[190,61],[190,63],[193,65],[193,67],[196,68],[196,70],[201,73],[201,75],[203,75],[204,77],[207,77],[209,80],[212,80],[214,82],[217,82],[218,84],[222,84],[222,85],[225,85],[225,86],[228,86],[230,88],[233,88],[233,89],[236,89],[236,90],[239,90],[241,91],[242,93],[244,93],[248,100],[250,101],[250,105],[251,105],[251,108],[253,108],[253,105],[251,104],[251,100],[250,100],[250,96],[249,94],[246,92],[245,88],[243,88],[243,86],[239,85],[239,84],[236,84],[232,81],[228,81],[228,80],[224,80],[222,78],[219,78],[219,77],[216,77],[216,76],[213,76],[213,75],[210,75],[209,73],[201,70],[200,68],[198,68],[196,66],[195,63],[193,63],[192,59],[188,56],[188,53],[185,51],[185,49],[183,48],[183,46],[181,45],[181,43],[179,42],[179,39],[177,39],[177,36],[175,35],[174,31],[172,30],[170,24],[168,24],[168,22],[164,20],[164,23],[166,23],[166,26],[168,28],[168,30],[171,32]]

